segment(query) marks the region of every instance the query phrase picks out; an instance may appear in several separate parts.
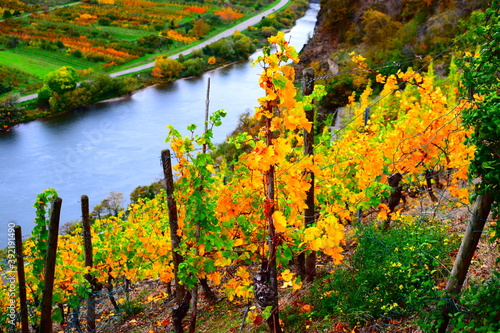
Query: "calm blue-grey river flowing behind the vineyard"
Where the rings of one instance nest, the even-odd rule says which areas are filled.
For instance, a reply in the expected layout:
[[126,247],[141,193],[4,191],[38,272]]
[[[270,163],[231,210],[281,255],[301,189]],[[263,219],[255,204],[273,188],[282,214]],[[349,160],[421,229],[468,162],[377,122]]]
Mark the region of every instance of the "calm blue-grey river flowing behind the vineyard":
[[[287,34],[298,51],[313,34],[318,10],[319,4],[311,3]],[[253,113],[263,95],[261,70],[250,61],[239,62],[0,133],[0,247],[6,245],[9,223],[21,225],[24,235],[31,232],[33,203],[46,188],[56,189],[63,199],[62,225],[80,219],[83,194],[91,209],[110,192],[123,193],[126,205],[134,188],[162,178],[160,152],[169,148],[167,125],[186,135],[190,124],[203,129],[208,78],[210,111],[227,111],[214,130],[214,142],[223,142],[239,116]]]

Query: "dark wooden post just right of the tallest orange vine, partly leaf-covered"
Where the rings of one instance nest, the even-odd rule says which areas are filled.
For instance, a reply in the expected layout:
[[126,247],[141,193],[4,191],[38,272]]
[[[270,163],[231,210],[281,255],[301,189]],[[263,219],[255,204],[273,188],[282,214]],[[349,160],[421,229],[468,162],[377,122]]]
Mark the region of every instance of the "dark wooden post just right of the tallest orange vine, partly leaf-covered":
[[[302,93],[304,96],[309,96],[314,91],[314,68],[306,68],[302,72]],[[312,124],[311,130],[308,132],[304,129],[304,156],[313,155],[314,146],[314,110],[305,110],[307,120]],[[307,191],[306,205],[304,210],[304,226],[310,227],[314,223],[314,172],[307,172],[309,175],[309,184],[311,187]],[[313,281],[316,275],[316,252],[311,251],[309,254],[301,253],[298,256],[299,275],[304,281]]]

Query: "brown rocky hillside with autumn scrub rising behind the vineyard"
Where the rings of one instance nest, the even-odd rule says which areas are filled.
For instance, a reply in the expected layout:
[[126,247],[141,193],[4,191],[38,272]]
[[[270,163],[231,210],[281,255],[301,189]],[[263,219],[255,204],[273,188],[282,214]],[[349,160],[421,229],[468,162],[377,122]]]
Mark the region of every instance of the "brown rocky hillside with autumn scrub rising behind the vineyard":
[[488,6],[486,0],[322,0],[316,32],[301,52],[297,71],[312,66],[316,76],[334,76],[318,80],[329,93],[321,103],[326,113],[365,87],[349,75],[336,76],[355,67],[352,51],[367,58],[372,79],[377,70],[384,75],[409,67],[426,70],[430,60],[438,75],[447,75],[455,52],[476,47],[468,33]]

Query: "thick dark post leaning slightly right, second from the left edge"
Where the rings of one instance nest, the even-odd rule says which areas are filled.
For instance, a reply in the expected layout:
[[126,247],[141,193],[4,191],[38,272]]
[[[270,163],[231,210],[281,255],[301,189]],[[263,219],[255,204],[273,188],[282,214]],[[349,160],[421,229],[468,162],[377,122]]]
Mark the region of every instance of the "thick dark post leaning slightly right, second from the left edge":
[[42,298],[42,313],[39,333],[52,333],[52,298],[54,294],[54,277],[56,268],[57,239],[59,236],[59,219],[61,216],[62,199],[52,199],[50,212],[47,254],[45,256],[45,274]]

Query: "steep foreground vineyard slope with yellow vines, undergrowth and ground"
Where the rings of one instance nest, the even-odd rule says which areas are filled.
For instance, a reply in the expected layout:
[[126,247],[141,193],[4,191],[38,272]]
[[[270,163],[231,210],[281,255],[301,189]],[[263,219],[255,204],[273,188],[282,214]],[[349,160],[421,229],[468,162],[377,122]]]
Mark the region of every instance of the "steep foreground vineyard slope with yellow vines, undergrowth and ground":
[[[498,12],[488,15],[498,23]],[[175,185],[168,154],[162,154],[166,193],[94,219],[91,265],[80,224],[59,237],[52,311],[58,329],[91,325],[84,308],[92,295],[98,332],[180,332],[196,325],[207,332],[436,331],[433,323],[450,299],[443,289],[454,251],[472,210],[469,166],[480,150],[466,140],[476,134],[463,115],[498,99],[498,80],[482,94],[467,96],[461,87],[474,69],[467,66],[497,61],[482,58],[498,47],[495,24],[481,30],[490,34],[478,35],[482,51],[457,54],[446,76],[435,74],[432,59],[418,70],[384,75],[350,53],[353,77],[365,89],[349,96],[335,136],[307,117],[325,87],[305,80],[298,91],[290,64],[299,61],[296,51],[283,33],[270,37],[271,47],[256,60],[264,93],[254,118],[262,126],[229,139],[238,157],[216,161],[211,154],[223,110],[203,131],[169,126]],[[307,133],[314,131],[312,153],[305,153]],[[39,195],[37,225],[23,243],[33,328],[43,311],[48,207],[56,196],[50,189]],[[487,226],[493,236],[495,221]],[[482,243],[479,255],[485,252],[475,259],[469,281],[475,286],[453,303],[460,310],[453,332],[499,329],[498,239]],[[10,267],[14,258],[9,252]],[[16,280],[7,268],[4,278],[11,276]],[[9,308],[17,288],[14,282],[0,289],[4,327],[20,327],[19,304]],[[477,302],[484,308],[473,308]]]

